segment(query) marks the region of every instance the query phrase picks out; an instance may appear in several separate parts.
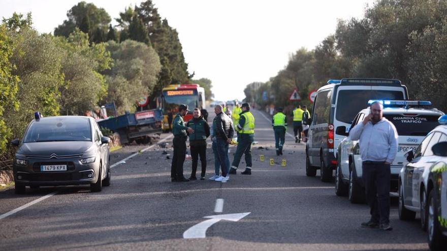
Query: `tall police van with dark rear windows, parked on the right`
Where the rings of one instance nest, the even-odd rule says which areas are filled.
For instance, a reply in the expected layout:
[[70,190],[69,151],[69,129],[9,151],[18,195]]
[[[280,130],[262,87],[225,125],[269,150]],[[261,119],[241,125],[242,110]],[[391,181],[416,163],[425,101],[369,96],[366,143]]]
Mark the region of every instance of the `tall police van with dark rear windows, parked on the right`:
[[367,78],[329,80],[318,89],[306,144],[307,176],[320,169],[321,180],[332,181],[336,149],[345,137],[339,128],[347,130],[370,99],[405,100],[408,90],[400,80]]

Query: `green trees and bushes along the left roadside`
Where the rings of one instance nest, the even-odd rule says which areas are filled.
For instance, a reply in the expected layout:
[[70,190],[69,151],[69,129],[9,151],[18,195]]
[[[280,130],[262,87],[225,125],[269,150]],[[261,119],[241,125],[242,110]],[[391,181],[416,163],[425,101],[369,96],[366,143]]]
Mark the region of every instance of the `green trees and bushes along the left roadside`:
[[211,98],[211,81],[196,82],[175,28],[151,0],[123,8],[111,25],[100,7],[79,2],[54,34],[33,28],[31,13],[0,24],[0,162],[11,159],[8,142],[20,138],[34,112],[84,115],[115,102],[118,114],[154,97],[169,84],[199,83]]

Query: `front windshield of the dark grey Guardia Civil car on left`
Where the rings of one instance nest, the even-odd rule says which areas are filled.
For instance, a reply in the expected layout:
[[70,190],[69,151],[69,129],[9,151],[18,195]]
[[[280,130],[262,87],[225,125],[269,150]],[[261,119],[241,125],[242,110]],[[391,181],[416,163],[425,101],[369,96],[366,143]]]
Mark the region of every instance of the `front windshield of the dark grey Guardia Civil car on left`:
[[80,117],[54,117],[34,121],[24,143],[45,141],[91,141],[90,122]]

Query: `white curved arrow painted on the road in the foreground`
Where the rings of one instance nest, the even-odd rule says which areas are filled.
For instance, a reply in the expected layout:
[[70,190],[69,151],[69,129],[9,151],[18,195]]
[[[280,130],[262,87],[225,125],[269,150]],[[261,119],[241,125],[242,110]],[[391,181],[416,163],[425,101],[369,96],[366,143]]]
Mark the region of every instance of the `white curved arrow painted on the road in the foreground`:
[[246,217],[251,212],[242,212],[242,213],[231,213],[231,214],[220,214],[217,216],[205,216],[204,218],[209,218],[209,220],[203,221],[199,224],[196,224],[183,233],[184,239],[194,239],[194,238],[205,238],[206,230],[218,223],[221,220],[237,222],[240,219]]

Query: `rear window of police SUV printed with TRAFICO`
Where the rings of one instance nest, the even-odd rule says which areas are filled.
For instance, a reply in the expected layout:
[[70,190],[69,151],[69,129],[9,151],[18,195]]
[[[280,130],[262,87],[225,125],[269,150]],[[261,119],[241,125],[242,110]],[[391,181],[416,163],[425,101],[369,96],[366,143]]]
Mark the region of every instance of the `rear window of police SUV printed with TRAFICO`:
[[439,115],[384,114],[397,129],[397,134],[406,136],[427,136],[439,125]]

